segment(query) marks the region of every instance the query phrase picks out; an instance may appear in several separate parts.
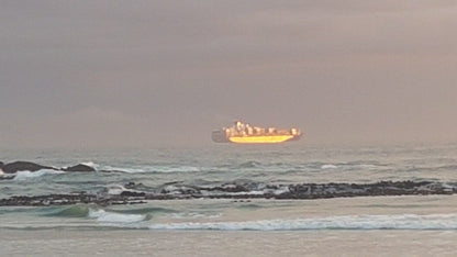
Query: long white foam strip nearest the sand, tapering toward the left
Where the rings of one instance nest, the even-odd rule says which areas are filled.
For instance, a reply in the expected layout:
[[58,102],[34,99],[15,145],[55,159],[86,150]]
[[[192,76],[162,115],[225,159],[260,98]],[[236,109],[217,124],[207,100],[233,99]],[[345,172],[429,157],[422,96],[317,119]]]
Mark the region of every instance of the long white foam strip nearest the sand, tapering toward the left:
[[355,215],[301,220],[153,224],[151,230],[301,231],[301,230],[457,230],[456,214]]

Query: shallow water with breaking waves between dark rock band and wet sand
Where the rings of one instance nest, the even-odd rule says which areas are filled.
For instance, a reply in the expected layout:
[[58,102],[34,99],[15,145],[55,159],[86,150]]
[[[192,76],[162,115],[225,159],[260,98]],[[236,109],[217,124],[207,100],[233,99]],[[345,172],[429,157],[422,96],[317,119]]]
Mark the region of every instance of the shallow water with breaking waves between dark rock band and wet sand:
[[0,208],[3,230],[457,230],[457,195],[327,200],[171,200],[137,205]]

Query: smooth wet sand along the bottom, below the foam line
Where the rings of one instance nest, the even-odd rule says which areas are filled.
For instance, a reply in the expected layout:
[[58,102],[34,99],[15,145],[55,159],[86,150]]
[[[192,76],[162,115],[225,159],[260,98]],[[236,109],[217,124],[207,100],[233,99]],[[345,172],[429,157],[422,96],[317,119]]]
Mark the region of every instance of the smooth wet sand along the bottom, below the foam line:
[[455,256],[457,231],[0,230],[1,256]]

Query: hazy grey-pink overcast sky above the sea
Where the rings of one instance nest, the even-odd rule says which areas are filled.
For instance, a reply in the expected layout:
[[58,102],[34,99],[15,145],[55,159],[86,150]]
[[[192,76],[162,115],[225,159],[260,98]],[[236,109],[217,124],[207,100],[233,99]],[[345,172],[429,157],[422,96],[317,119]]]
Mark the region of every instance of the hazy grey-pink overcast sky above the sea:
[[0,1],[0,148],[456,142],[457,3]]

